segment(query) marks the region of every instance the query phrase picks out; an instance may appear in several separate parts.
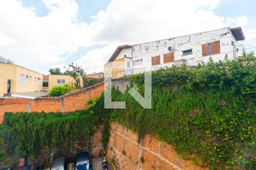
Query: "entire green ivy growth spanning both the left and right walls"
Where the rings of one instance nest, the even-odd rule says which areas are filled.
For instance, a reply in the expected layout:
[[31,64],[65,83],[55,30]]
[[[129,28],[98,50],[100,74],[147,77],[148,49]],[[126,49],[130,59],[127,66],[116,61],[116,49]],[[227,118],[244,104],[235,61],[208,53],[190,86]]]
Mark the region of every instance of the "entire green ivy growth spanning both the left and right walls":
[[[133,75],[131,81],[143,95],[144,75]],[[117,121],[140,137],[156,135],[184,159],[204,167],[255,169],[255,58],[154,71],[151,109],[143,109],[128,92],[112,90],[113,100],[126,101],[126,109],[104,109],[101,96],[89,100],[86,111],[65,116],[6,113],[0,126],[0,158],[35,155],[43,146],[58,143],[68,145],[65,141],[92,135],[99,124],[105,127],[106,146],[109,122]]]

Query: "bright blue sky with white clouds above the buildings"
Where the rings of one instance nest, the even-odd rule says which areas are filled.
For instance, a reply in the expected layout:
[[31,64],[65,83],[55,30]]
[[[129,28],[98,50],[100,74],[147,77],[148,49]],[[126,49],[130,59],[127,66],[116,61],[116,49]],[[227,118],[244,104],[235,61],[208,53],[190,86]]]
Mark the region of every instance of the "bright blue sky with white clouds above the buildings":
[[71,62],[104,70],[118,45],[242,27],[256,50],[255,0],[3,0],[0,56],[43,74]]

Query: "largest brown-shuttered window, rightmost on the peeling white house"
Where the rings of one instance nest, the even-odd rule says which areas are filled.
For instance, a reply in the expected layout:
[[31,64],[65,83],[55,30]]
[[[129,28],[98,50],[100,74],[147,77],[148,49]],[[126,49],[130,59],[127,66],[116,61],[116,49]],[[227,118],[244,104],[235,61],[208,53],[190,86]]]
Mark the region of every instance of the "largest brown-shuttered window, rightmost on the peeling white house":
[[202,45],[203,56],[220,54],[220,41],[210,42]]

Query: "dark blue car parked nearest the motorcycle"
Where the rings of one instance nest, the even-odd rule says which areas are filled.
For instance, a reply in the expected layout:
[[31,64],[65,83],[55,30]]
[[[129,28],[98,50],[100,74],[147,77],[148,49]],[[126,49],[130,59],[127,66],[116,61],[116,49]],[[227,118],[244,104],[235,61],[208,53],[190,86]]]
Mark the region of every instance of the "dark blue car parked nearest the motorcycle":
[[92,160],[88,152],[81,152],[76,155],[74,170],[92,170]]

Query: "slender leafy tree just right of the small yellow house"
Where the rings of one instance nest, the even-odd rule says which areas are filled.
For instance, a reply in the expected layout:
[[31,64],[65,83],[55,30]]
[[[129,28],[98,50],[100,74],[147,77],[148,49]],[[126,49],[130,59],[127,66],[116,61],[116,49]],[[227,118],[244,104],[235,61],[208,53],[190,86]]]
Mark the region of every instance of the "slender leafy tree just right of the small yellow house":
[[[86,78],[86,73],[81,66],[78,66],[77,64],[74,65],[74,63],[72,62],[68,65],[68,69],[65,71],[64,74],[71,75],[72,78],[75,79],[75,86],[77,88],[87,87],[88,80]],[[82,82],[80,78],[82,79]]]

